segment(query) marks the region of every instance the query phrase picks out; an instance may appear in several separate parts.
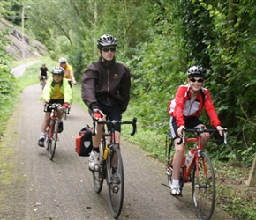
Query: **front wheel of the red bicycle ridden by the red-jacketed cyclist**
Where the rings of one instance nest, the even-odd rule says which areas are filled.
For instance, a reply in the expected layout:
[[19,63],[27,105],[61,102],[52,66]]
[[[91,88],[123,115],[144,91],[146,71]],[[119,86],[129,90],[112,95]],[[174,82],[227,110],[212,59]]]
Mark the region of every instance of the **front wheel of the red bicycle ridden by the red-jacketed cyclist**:
[[192,199],[200,220],[208,220],[215,209],[215,172],[210,158],[203,151],[199,156],[200,171],[192,172]]

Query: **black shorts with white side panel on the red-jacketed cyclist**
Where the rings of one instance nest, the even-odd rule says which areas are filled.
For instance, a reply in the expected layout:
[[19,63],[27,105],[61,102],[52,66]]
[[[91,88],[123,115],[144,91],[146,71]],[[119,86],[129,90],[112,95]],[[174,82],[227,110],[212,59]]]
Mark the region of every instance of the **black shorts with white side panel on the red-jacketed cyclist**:
[[[184,120],[184,126],[185,128],[195,128],[200,124],[203,124],[202,121],[199,120],[198,117],[191,117],[191,118],[187,118]],[[176,122],[176,118],[174,117],[170,117],[169,120],[169,128],[170,128],[170,133],[173,139],[179,138],[179,136],[177,135],[177,122]]]

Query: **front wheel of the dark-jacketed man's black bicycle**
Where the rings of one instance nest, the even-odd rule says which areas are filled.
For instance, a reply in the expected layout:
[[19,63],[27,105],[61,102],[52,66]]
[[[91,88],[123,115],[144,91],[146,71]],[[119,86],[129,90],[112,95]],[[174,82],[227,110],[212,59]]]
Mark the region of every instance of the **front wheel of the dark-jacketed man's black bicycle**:
[[124,201],[124,167],[121,153],[116,146],[109,149],[107,171],[109,207],[112,216],[117,218],[121,213]]

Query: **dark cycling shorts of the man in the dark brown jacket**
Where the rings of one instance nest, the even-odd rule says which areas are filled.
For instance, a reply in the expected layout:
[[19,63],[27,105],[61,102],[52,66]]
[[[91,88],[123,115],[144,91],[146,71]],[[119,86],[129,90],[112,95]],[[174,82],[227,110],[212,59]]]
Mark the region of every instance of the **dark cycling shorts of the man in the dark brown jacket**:
[[[99,104],[99,110],[101,110],[103,114],[107,115],[107,118],[110,121],[112,121],[112,120],[121,121],[122,113],[121,113],[121,108],[118,104],[113,104],[113,105],[108,105],[108,106],[105,104],[102,104],[102,103],[98,103],[98,104]],[[89,109],[89,114],[90,115],[93,114],[92,109]],[[115,130],[121,132],[121,125],[116,124]]]

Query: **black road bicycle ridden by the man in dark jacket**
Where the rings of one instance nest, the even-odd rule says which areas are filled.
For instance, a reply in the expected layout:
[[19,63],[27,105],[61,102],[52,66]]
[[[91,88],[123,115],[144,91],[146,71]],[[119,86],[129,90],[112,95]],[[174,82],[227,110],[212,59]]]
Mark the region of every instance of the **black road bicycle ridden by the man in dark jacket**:
[[[115,124],[132,124],[133,136],[136,132],[136,118],[132,121],[97,121],[94,120],[94,132],[97,131],[97,125],[103,124],[102,140],[100,143],[100,166],[94,169],[94,191],[100,194],[102,191],[103,180],[108,185],[109,208],[111,215],[117,218],[123,208],[124,201],[124,167],[120,150],[115,141]],[[105,128],[108,127],[108,131]],[[94,134],[95,134],[94,133]]]

